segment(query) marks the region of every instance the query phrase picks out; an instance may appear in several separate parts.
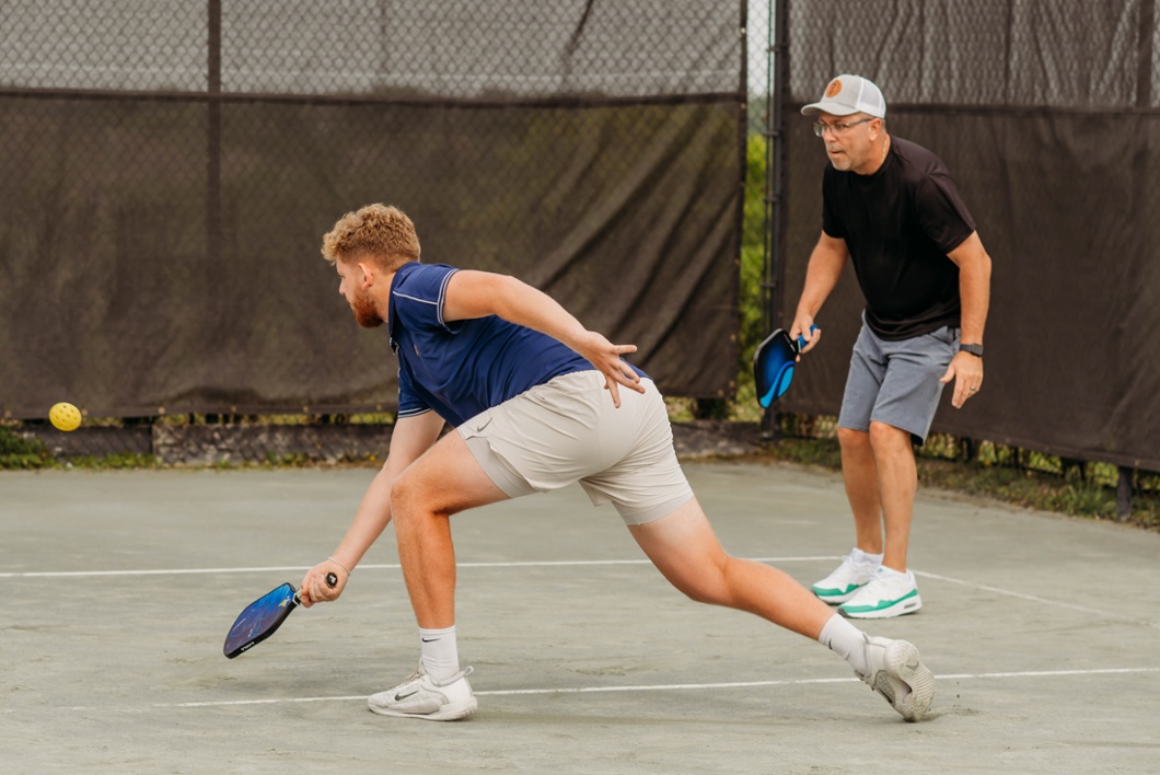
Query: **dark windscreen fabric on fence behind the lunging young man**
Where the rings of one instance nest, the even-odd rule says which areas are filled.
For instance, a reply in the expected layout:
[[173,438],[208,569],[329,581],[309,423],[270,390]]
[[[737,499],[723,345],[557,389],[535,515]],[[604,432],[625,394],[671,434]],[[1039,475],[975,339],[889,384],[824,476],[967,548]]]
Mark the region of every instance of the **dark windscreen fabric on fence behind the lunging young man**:
[[516,275],[638,345],[666,392],[731,391],[739,6],[242,5],[23,9],[0,417],[394,408],[386,334],[319,253],[370,202],[414,219],[425,261]]

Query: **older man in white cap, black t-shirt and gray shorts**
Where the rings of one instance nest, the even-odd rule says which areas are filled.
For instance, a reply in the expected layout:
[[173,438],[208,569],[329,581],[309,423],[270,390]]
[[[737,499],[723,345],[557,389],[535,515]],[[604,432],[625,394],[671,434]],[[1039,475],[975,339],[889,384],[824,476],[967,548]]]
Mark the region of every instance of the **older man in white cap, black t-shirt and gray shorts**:
[[875,84],[839,75],[802,113],[817,116],[829,166],[790,335],[806,336],[806,350],[818,343],[814,317],[847,258],[867,300],[838,419],[856,545],[813,593],[844,616],[900,616],[922,607],[906,566],[912,444],[926,440],[943,385],[954,382],[959,408],[983,384],[991,258],[945,165],[886,133]]

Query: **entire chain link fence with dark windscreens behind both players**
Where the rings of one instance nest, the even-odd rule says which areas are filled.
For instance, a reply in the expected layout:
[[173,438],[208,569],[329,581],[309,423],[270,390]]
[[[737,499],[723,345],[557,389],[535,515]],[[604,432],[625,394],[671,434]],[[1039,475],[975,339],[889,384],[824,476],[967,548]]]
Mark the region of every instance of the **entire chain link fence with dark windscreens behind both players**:
[[[623,332],[669,392],[728,396],[726,361],[744,381],[749,328],[767,327],[748,318],[767,294],[781,323],[820,227],[825,160],[797,109],[844,71],[883,86],[892,132],[948,161],[995,258],[988,389],[941,410],[922,454],[1105,486],[1121,465],[1121,485],[1128,470],[1154,494],[1160,358],[1125,332],[1158,323],[1155,2],[740,12],[5,3],[0,457],[382,456],[390,356],[317,259],[334,218],[369,201],[412,212],[428,260],[521,274]],[[739,304],[746,102],[751,175],[785,184],[767,178],[746,224],[784,241],[769,277],[742,256]],[[829,307],[836,360],[814,353],[782,433],[832,433],[861,309],[850,278]],[[80,432],[38,419],[61,398],[89,408]]]

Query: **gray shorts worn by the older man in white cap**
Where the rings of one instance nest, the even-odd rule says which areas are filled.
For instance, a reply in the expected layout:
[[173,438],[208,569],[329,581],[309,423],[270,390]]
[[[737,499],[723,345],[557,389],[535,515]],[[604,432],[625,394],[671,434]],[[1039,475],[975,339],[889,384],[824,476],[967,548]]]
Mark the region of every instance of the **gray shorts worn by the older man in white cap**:
[[938,382],[958,350],[958,327],[889,342],[862,321],[846,379],[840,428],[867,432],[870,421],[885,422],[922,444],[938,408]]

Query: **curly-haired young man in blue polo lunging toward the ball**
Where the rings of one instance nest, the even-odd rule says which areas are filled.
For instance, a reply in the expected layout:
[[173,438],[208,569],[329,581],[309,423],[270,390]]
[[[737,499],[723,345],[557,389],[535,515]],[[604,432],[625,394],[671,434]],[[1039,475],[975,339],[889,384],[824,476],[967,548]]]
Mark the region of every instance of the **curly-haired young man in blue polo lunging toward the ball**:
[[[904,718],[927,714],[934,676],[914,645],[868,637],[785,573],[725,553],[677,463],[664,399],[622,357],[635,346],[588,331],[514,277],[421,263],[414,225],[396,208],[346,215],[322,253],[356,320],[386,323],[399,358],[386,463],[302,585],[306,606],[336,599],[393,520],[421,657],[407,680],[369,698],[372,711],[452,720],[476,710],[471,668],[459,665],[450,517],[579,481],[594,504],[612,504],[686,595],[820,640]],[[455,432],[441,437],[444,422]]]

